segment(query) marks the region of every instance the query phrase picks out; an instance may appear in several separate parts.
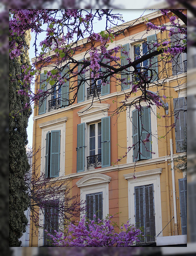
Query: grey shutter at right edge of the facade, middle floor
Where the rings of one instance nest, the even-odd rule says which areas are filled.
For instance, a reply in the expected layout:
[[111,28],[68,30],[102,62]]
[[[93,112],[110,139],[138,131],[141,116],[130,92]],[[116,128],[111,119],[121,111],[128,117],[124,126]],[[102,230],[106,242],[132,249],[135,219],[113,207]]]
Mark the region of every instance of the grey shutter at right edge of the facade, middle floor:
[[185,98],[174,99],[174,114],[175,114],[175,137],[176,137],[176,152],[185,151],[183,146],[186,139],[186,103]]

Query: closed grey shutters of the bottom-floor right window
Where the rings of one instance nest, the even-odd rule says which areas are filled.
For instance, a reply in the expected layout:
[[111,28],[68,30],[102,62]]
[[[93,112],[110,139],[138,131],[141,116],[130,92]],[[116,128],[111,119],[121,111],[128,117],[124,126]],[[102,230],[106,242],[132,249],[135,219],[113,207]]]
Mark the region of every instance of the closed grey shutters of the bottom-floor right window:
[[153,184],[134,187],[135,223],[142,228],[144,237],[140,242],[155,242],[155,210]]

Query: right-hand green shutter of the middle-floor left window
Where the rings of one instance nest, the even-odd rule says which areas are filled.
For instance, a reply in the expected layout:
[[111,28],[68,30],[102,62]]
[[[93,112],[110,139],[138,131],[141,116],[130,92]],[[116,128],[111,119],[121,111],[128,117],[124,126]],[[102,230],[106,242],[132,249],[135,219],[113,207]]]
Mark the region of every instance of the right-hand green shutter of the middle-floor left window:
[[58,177],[60,170],[60,135],[61,131],[51,131],[50,177]]

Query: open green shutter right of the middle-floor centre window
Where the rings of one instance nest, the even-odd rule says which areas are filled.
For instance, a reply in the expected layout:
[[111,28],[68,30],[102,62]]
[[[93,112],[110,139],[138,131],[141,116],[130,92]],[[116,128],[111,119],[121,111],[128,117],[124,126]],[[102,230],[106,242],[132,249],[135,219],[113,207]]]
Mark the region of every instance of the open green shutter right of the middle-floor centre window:
[[110,166],[110,116],[102,118],[102,167]]

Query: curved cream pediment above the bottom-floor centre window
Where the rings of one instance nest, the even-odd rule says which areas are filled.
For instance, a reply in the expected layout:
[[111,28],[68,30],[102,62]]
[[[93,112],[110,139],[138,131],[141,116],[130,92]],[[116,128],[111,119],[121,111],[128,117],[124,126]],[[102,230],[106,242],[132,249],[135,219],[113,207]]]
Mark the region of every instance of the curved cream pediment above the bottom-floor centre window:
[[76,185],[78,187],[86,187],[97,184],[109,183],[112,178],[104,174],[90,174],[80,179]]

